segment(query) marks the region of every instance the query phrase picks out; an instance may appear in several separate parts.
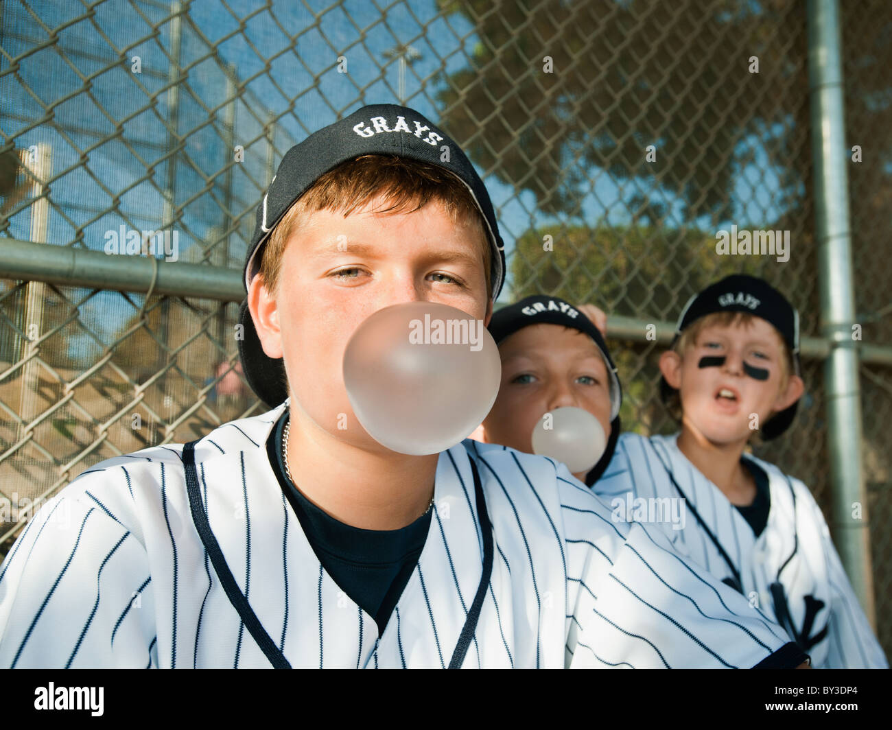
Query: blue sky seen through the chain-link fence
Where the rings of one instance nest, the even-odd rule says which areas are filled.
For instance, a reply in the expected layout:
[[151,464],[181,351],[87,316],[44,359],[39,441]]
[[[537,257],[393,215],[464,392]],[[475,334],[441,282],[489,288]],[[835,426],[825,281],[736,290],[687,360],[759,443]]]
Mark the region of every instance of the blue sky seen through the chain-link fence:
[[[434,98],[444,83],[442,75],[466,67],[468,57],[479,42],[470,22],[460,15],[441,17],[434,0],[393,4],[386,12],[368,0],[347,0],[324,12],[329,5],[320,0],[306,4],[277,0],[270,13],[256,12],[258,4],[251,0],[232,0],[228,6],[237,17],[219,0],[196,0],[191,5],[195,28],[188,22],[183,24],[182,64],[192,64],[208,55],[208,43],[216,46],[217,54],[189,71],[187,83],[196,99],[185,88],[180,89],[180,134],[200,126],[208,118],[202,104],[216,110],[219,122],[225,119],[223,105],[232,87],[227,86],[221,68],[224,64],[232,64],[238,81],[246,82],[249,92],[235,105],[234,111],[234,141],[244,144],[246,163],[231,175],[228,190],[224,189],[225,176],[216,173],[227,164],[230,154],[227,143],[233,140],[221,137],[219,130],[210,127],[186,137],[186,153],[198,170],[182,161],[176,170],[175,201],[178,205],[185,203],[178,221],[183,249],[203,243],[215,229],[227,224],[213,200],[214,195],[218,199],[230,195],[236,210],[246,210],[260,198],[271,171],[266,166],[268,145],[256,137],[269,114],[279,118],[272,154],[275,165],[288,146],[338,116],[363,104],[399,102],[399,66],[385,52],[400,44],[410,44],[417,49],[419,57],[406,73],[405,103],[436,121],[440,110],[435,107]],[[29,18],[21,5],[2,7],[3,44],[7,53],[19,54],[47,37],[40,23]],[[138,79],[149,94],[157,93],[167,82],[167,59],[161,46],[170,47],[170,23],[160,26],[158,42],[152,38],[137,42],[151,34],[149,23],[158,23],[167,17],[169,4],[144,2],[138,7],[145,17],[128,3],[97,6],[95,25],[78,21],[60,33],[58,46],[70,62],[65,62],[53,48],[47,48],[21,62],[18,78],[7,74],[0,79],[0,123],[5,138],[13,137],[20,148],[38,143],[51,145],[54,174],[70,170],[53,186],[53,200],[60,210],[50,215],[47,231],[50,243],[70,245],[79,227],[83,245],[100,249],[104,232],[117,229],[121,223],[131,228],[160,228],[163,223],[165,207],[161,190],[167,185],[169,170],[161,158],[169,139],[158,115],[166,117],[169,113],[168,94],[163,92],[157,96],[157,114],[151,110],[136,114],[124,124],[122,136],[114,137],[115,122],[147,104],[148,97],[135,81]],[[39,20],[48,28],[83,12],[80,4],[63,0],[45,2],[39,8]],[[238,18],[248,18],[244,30],[239,30]],[[140,55],[143,73],[136,77],[128,65],[118,64],[92,79],[91,94],[96,104],[84,94],[58,104],[65,95],[83,85],[82,76],[96,73],[113,62],[115,56],[103,33],[120,48],[133,46],[128,56]],[[288,34],[296,39],[292,41]],[[347,74],[337,72],[338,57],[342,55],[347,59]],[[6,63],[0,65],[5,67]],[[385,66],[384,71],[380,66]],[[19,79],[31,88],[31,93]],[[46,124],[24,131],[44,113],[35,95],[44,106],[58,104],[54,107],[54,120],[61,131]],[[97,145],[103,137],[110,138]],[[122,139],[127,139],[129,146]],[[755,156],[746,168],[739,170],[735,182],[734,222],[773,220],[780,213],[772,203],[779,185],[777,171],[768,167],[764,147],[758,140],[744,143],[747,144],[753,145]],[[87,167],[93,172],[91,177],[79,164],[75,146],[84,150],[94,145],[87,160]],[[154,185],[149,180],[140,182],[145,176],[146,164],[154,164]],[[610,225],[630,222],[624,198],[638,189],[635,182],[617,181],[599,170],[591,170],[590,177],[593,183],[591,193],[582,203],[583,220],[592,226],[602,222]],[[204,187],[207,178],[214,179],[213,191],[190,201]],[[537,212],[531,193],[517,194],[513,187],[493,176],[484,181],[496,207],[508,256],[516,237],[525,230],[566,222]],[[647,185],[641,182],[645,190]],[[120,192],[124,190],[127,192]],[[118,209],[113,210],[116,194],[120,200]],[[673,221],[681,220],[679,199],[659,192],[656,198],[669,210],[665,225],[672,227]],[[708,220],[696,222],[703,227],[714,225]],[[720,227],[730,226],[731,222],[720,221]],[[252,223],[252,216],[246,216],[239,229],[241,238],[233,236],[230,265],[239,265]],[[12,219],[8,235],[28,238],[29,227],[29,211],[25,210]],[[180,255],[181,259],[189,258],[186,250]],[[504,294],[509,294],[508,287]],[[103,293],[94,297],[81,315],[105,337],[123,327],[134,313],[120,295]],[[93,345],[78,342],[77,348],[90,350]]]

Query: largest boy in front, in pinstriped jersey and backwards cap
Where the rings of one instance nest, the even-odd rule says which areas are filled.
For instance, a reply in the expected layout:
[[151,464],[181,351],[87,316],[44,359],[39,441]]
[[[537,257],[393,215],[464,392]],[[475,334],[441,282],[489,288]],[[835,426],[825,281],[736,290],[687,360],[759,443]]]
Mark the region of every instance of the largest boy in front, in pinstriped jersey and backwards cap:
[[272,410],[103,461],[49,502],[0,568],[0,665],[803,664],[566,467],[470,440],[407,455],[359,426],[354,331],[417,302],[488,322],[504,270],[482,181],[418,112],[364,107],[295,145],[258,208],[240,315]]

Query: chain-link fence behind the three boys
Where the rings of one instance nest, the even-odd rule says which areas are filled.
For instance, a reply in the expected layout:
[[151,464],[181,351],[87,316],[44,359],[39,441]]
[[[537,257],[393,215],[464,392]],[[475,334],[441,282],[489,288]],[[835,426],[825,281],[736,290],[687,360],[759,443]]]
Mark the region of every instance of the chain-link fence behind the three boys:
[[[855,296],[863,342],[888,347],[892,6],[842,12]],[[624,423],[672,429],[644,323],[673,321],[708,281],[764,276],[821,334],[807,51],[796,0],[0,4],[3,236],[235,282],[196,297],[157,294],[153,270],[0,280],[0,492],[23,507],[99,460],[262,410],[234,336],[254,206],[291,145],[369,103],[413,106],[469,151],[507,243],[502,301],[559,294],[634,323],[613,341]],[[789,260],[717,256],[732,225],[789,231]],[[862,366],[887,652],[890,360]],[[820,357],[804,378],[795,429],[756,450],[832,525]],[[0,555],[28,516],[4,513]]]

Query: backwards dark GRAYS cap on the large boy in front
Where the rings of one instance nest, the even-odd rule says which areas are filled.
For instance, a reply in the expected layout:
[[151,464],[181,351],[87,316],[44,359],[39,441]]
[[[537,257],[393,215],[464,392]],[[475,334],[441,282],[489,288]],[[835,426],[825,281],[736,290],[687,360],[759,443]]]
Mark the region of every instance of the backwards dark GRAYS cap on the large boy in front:
[[[319,129],[285,153],[257,206],[254,235],[244,260],[245,292],[260,269],[260,251],[285,212],[326,172],[367,154],[427,162],[448,170],[467,186],[483,216],[492,248],[492,300],[495,301],[505,277],[505,252],[483,180],[465,153],[442,129],[415,110],[396,104],[364,106],[343,120]],[[239,310],[239,322],[244,327],[244,337],[239,340],[244,376],[260,400],[275,407],[288,397],[282,359],[269,358],[263,352],[247,299]]]

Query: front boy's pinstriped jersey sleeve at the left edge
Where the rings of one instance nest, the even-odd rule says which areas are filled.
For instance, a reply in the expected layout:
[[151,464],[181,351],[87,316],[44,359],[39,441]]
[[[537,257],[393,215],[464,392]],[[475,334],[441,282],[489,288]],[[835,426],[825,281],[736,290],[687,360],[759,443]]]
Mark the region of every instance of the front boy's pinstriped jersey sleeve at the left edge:
[[157,666],[142,535],[93,482],[47,502],[0,566],[0,667]]

